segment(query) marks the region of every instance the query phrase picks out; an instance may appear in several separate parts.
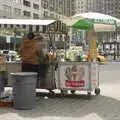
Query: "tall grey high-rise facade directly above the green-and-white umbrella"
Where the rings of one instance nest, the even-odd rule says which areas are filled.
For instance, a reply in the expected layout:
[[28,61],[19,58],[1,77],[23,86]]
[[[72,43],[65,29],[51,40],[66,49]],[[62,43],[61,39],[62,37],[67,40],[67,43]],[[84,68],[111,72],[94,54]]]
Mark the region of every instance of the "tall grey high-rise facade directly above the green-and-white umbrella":
[[76,13],[100,12],[120,18],[120,0],[76,0]]

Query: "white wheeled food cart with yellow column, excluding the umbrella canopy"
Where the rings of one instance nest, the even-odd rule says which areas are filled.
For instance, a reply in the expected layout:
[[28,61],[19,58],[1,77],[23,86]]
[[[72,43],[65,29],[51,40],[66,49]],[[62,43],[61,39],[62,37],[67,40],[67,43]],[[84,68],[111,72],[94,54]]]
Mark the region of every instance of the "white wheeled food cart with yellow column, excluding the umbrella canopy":
[[[68,90],[72,93],[75,93],[77,90],[86,91],[88,96],[91,95],[93,90],[95,90],[94,92],[96,95],[100,94],[99,64],[96,61],[96,36],[91,36],[91,39],[94,39],[94,41],[91,42],[91,56],[90,58],[88,57],[88,60],[80,60],[80,53],[78,53],[79,55],[75,55],[75,58],[72,60],[58,62],[58,69],[56,70],[56,85],[63,95],[66,94]],[[73,56],[71,56],[71,58],[72,57]]]

